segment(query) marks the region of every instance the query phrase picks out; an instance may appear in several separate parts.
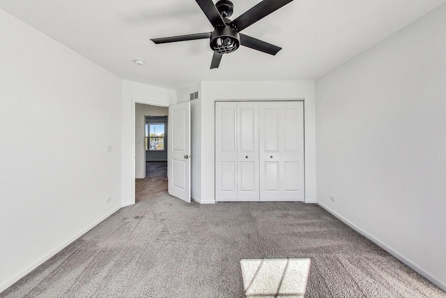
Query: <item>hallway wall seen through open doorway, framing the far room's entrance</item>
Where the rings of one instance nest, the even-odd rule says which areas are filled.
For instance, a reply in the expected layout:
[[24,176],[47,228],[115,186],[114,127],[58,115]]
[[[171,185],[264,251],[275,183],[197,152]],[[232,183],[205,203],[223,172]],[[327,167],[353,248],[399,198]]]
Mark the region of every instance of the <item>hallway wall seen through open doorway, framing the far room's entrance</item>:
[[[169,107],[157,107],[141,103],[135,105],[134,172],[138,179],[146,177],[146,116],[167,116],[168,114]],[[167,153],[165,155],[167,156]]]

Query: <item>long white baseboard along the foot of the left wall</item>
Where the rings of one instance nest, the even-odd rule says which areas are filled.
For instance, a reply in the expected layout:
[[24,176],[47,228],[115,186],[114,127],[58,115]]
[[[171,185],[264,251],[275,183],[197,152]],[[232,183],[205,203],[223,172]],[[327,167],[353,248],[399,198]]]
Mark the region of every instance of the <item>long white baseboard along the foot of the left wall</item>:
[[94,221],[91,225],[89,225],[87,228],[85,228],[84,230],[78,232],[77,234],[75,234],[73,237],[71,237],[70,239],[68,239],[68,241],[66,241],[65,243],[61,244],[60,246],[56,247],[53,251],[50,251],[49,253],[47,253],[46,255],[44,255],[42,258],[40,258],[39,260],[37,260],[36,262],[33,263],[33,265],[31,265],[30,267],[22,270],[19,274],[17,274],[16,276],[14,276],[13,278],[10,278],[8,281],[6,281],[5,283],[0,285],[0,293],[3,292],[4,290],[6,290],[7,288],[9,288],[11,285],[13,285],[14,283],[16,283],[17,281],[20,280],[20,278],[26,276],[26,274],[29,274],[31,271],[33,271],[34,269],[36,269],[37,267],[39,267],[40,265],[42,265],[44,262],[46,262],[47,260],[49,260],[50,258],[54,257],[54,255],[56,255],[56,253],[59,253],[60,251],[63,250],[63,248],[66,248],[67,246],[69,246],[70,244],[72,244],[72,242],[74,242],[75,240],[77,240],[79,237],[81,237],[83,234],[85,234],[86,232],[89,232],[89,230],[91,230],[92,228],[94,228],[96,225],[100,224],[102,221],[104,221],[105,219],[107,219],[109,216],[111,216],[112,214],[114,214],[116,211],[118,211],[119,209],[121,209],[121,206],[118,206],[116,208],[114,208],[112,211],[109,211],[107,214],[105,214],[104,216],[102,216],[100,219],[98,219],[97,221]]

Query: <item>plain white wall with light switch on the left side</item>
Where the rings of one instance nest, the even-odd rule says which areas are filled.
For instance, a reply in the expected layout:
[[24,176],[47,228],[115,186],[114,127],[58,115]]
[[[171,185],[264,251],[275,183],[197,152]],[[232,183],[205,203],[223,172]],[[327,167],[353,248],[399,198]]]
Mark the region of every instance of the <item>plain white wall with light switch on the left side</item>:
[[0,10],[0,103],[1,292],[121,207],[121,80]]

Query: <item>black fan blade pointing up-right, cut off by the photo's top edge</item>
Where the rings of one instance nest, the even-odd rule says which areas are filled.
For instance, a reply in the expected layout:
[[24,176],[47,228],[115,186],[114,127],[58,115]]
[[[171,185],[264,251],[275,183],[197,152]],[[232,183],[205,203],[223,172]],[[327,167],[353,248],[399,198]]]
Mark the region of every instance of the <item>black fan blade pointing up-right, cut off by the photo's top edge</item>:
[[293,0],[263,0],[253,8],[247,10],[243,15],[237,17],[231,24],[240,32],[291,1]]

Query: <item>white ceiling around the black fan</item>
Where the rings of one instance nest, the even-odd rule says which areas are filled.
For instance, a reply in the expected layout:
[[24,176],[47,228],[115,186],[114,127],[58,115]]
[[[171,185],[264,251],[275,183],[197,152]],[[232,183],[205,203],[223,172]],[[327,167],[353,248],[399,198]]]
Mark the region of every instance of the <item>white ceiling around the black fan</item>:
[[[232,1],[232,20],[260,2]],[[194,0],[0,0],[0,8],[118,77],[178,89],[201,80],[315,80],[443,3],[294,0],[243,31],[283,47],[276,56],[240,47],[213,70],[206,39],[149,40],[212,31]]]

